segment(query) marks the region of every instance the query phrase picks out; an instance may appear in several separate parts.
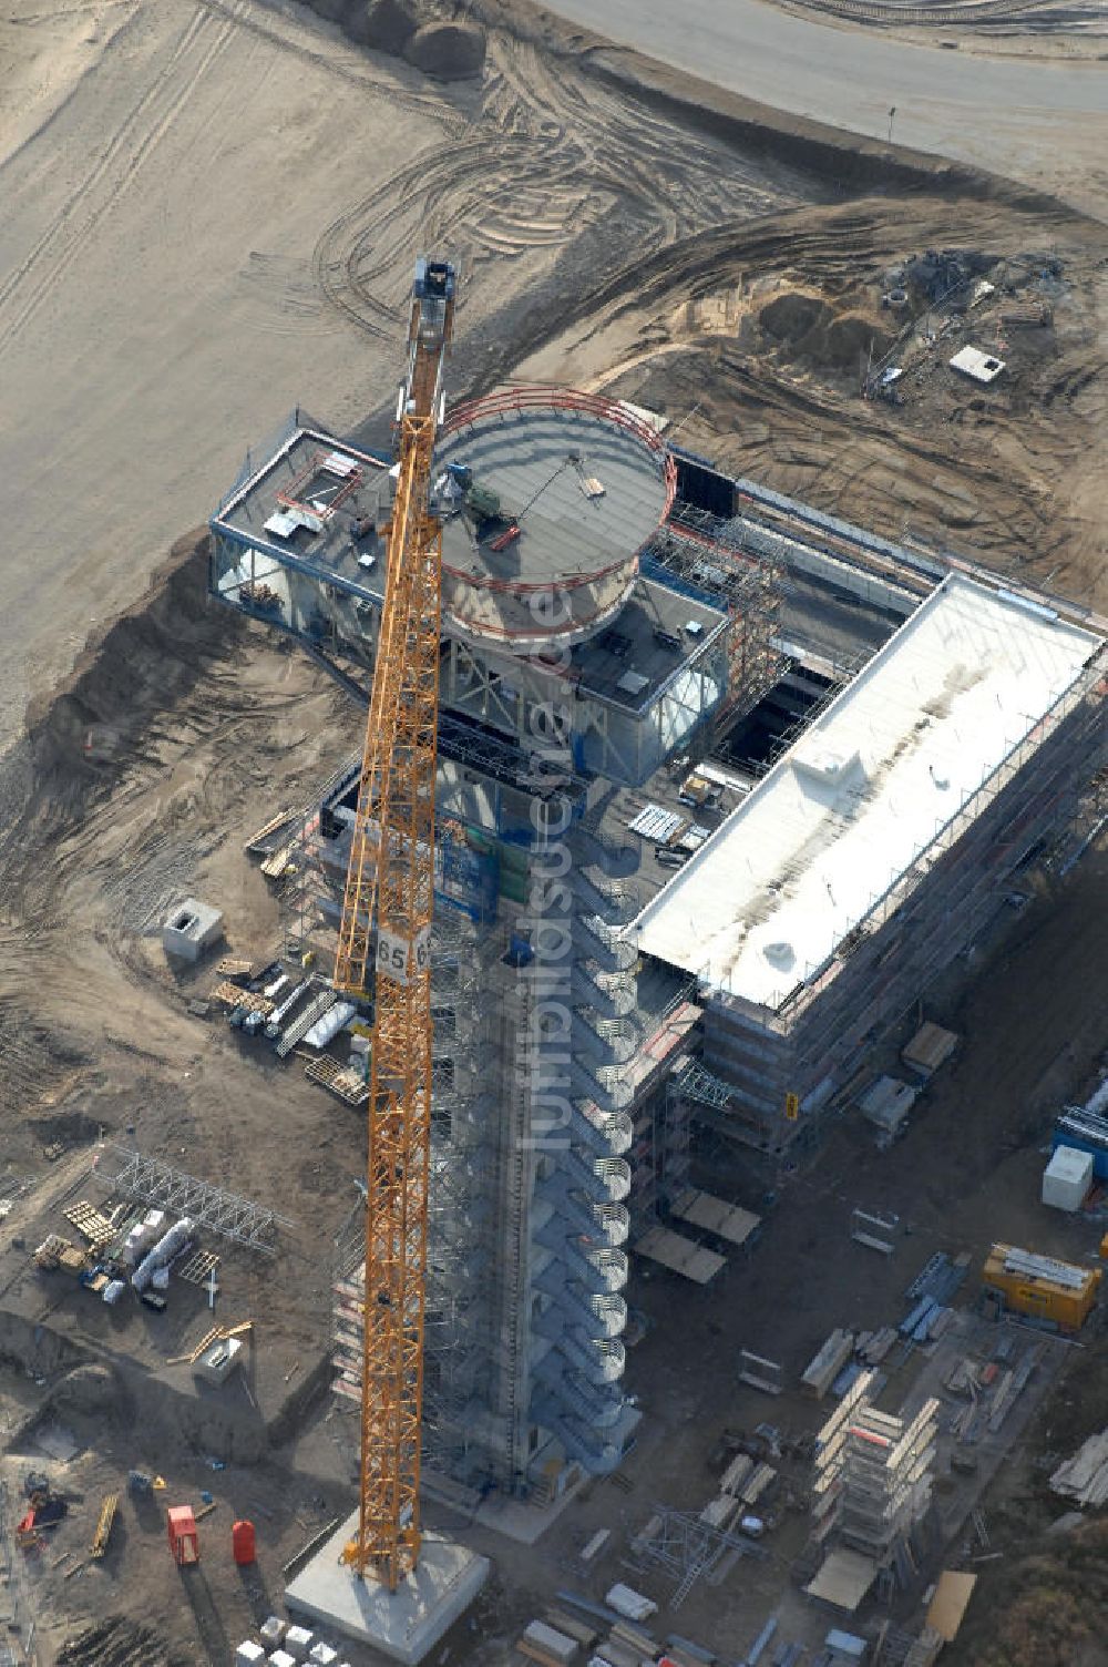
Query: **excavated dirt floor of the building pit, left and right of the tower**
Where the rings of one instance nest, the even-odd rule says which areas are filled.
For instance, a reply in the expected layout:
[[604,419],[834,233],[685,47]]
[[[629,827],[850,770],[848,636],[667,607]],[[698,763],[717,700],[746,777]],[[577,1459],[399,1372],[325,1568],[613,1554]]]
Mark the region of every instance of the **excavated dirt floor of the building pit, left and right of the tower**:
[[[65,695],[32,723],[32,790],[3,849],[0,1000],[7,1177],[38,1182],[5,1225],[8,1234],[32,1232],[50,1189],[68,1187],[70,1175],[80,1185],[102,1134],[133,1139],[142,1150],[282,1210],[293,1225],[280,1262],[228,1254],[220,1312],[253,1315],[262,1364],[273,1357],[285,1367],[315,1360],[325,1347],[330,1239],[353,1204],[362,1162],[357,1114],[307,1084],[295,1060],[258,1062],[218,1022],[190,1017],[185,999],[202,994],[210,977],[170,975],[157,927],[172,895],[195,890],[225,909],[233,950],[270,954],[277,905],[242,844],[273,805],[307,798],[355,745],[358,718],[295,652],[205,600],[202,553],[182,540],[152,602],[113,627]],[[90,727],[103,743],[93,760],[82,742]],[[1005,915],[978,945],[968,989],[960,967],[933,992],[928,1012],[951,1024],[963,1044],[898,1145],[880,1154],[865,1125],[850,1119],[833,1125],[818,1159],[781,1190],[750,1259],[733,1259],[718,1284],[696,1290],[661,1272],[636,1274],[630,1299],[646,1337],[630,1354],[628,1385],[646,1424],[623,1482],[586,1489],[535,1550],[467,1524],[467,1540],[493,1557],[497,1575],[475,1630],[467,1624],[452,1650],[502,1660],[518,1625],[566,1582],[596,1527],[610,1527],[613,1537],[590,1577],[591,1597],[601,1595],[605,1580],[628,1574],[628,1540],[655,1504],[700,1509],[710,1497],[708,1454],[725,1425],[751,1429],[770,1417],[793,1434],[815,1427],[818,1409],[796,1394],[768,1404],[738,1385],[741,1345],[780,1359],[795,1382],[831,1325],[895,1322],[905,1287],[936,1249],[968,1250],[975,1265],[993,1237],[1088,1254],[1103,1225],[1041,1210],[1036,1199],[1050,1115],[1086,1089],[1105,1049],[1098,992],[1108,972],[1100,930],[1106,894],[1105,852],[1090,855],[1065,885],[1045,879],[1033,902]],[[63,1147],[57,1169],[45,1154],[55,1144]],[[726,1145],[703,1142],[698,1164],[698,1179],[715,1192],[761,1207],[746,1165]],[[850,1242],[855,1205],[900,1217],[895,1257],[883,1260]],[[18,1269],[25,1254],[7,1250],[5,1314],[50,1320],[57,1294],[47,1287],[35,1295],[42,1280],[27,1287],[25,1275],[12,1290]],[[185,1347],[203,1325],[198,1305],[185,1325]],[[75,1500],[57,1535],[58,1555],[83,1542],[102,1494],[133,1465],[165,1474],[185,1499],[197,1502],[207,1489],[217,1500],[202,1525],[208,1554],[200,1582],[183,1585],[173,1569],[160,1505],[150,1512],[130,1499],[122,1505],[123,1532],[102,1564],[65,1579],[68,1565],[53,1567],[53,1547],[50,1557],[25,1564],[23,1614],[42,1615],[43,1647],[78,1637],[80,1617],[118,1615],[127,1622],[120,1664],[183,1664],[198,1650],[200,1659],[223,1660],[225,1645],[233,1649],[252,1617],[272,1607],[285,1560],[348,1502],[348,1420],[330,1414],[320,1395],[275,1445],[242,1457],[232,1450],[227,1469],[213,1470],[210,1444],[185,1437],[183,1424],[143,1415],[137,1425],[128,1417],[123,1397],[135,1384],[128,1370],[120,1375],[118,1345],[97,1342],[95,1315],[80,1322],[73,1342],[83,1359],[115,1372],[112,1394],[95,1382],[90,1394],[88,1365],[73,1369],[68,1359],[33,1355],[32,1375],[42,1384],[28,1380],[15,1367],[27,1360],[25,1334],[10,1327],[5,1319],[3,1354],[13,1369],[2,1385],[10,1432],[2,1469],[10,1497],[18,1497],[28,1464],[43,1464],[22,1435],[25,1420],[45,1410],[83,1442],[68,1465],[53,1467]],[[142,1352],[143,1372],[180,1347],[177,1329],[155,1339]],[[133,1357],[132,1344],[127,1352]],[[883,1404],[893,1410],[910,1384],[910,1370],[895,1375]],[[157,1405],[147,1390],[142,1395],[143,1409]],[[1071,1432],[1073,1420],[1061,1424],[1051,1445],[1070,1450]],[[803,1469],[791,1482],[800,1500]],[[730,1639],[753,1637],[775,1605],[785,1605],[791,1635],[818,1627],[820,1617],[798,1602],[788,1579],[806,1529],[803,1510],[786,1499],[770,1559],[745,1564],[718,1587],[696,1589],[680,1614],[666,1610],[665,1575],[635,1570],[633,1582],[663,1605],[663,1627],[723,1652]],[[225,1554],[228,1524],[243,1512],[255,1519],[262,1545],[250,1580],[240,1580]],[[430,1519],[462,1527],[442,1509],[432,1507]],[[996,1549],[1011,1544],[1016,1552],[1026,1544],[1011,1514],[1000,1512],[991,1534]],[[1003,1592],[998,1567],[988,1567],[988,1579],[996,1577]],[[570,1584],[581,1589],[576,1574]],[[143,1642],[128,1627],[152,1612],[157,1637]],[[93,1637],[87,1654],[58,1659],[98,1667],[110,1660],[100,1650],[107,1644]]]

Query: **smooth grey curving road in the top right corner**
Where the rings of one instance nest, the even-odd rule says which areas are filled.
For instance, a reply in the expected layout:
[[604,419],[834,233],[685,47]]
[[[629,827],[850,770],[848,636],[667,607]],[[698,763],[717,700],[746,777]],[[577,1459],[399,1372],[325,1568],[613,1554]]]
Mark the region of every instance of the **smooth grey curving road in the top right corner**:
[[833,127],[1056,192],[1108,218],[1108,62],[1000,58],[836,28],[763,0],[543,0],[675,68]]

